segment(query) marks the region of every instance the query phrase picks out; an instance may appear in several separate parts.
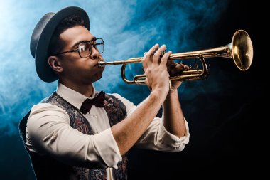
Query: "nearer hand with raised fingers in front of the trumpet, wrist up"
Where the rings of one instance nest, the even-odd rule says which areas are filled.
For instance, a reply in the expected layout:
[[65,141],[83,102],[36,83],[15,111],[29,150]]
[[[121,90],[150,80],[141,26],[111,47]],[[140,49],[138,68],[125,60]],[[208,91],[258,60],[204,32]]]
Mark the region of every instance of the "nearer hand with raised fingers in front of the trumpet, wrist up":
[[162,95],[161,97],[163,95],[166,97],[169,91],[169,75],[166,64],[171,51],[160,58],[165,50],[165,45],[159,48],[156,44],[147,53],[144,53],[144,60],[142,61],[146,74],[146,85],[152,92],[158,92],[158,95]]

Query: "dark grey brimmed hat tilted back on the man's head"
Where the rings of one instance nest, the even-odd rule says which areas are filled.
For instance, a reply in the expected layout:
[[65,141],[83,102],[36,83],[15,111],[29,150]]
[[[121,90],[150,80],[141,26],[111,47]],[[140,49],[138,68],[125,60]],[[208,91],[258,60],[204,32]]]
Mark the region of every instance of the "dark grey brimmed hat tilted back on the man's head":
[[53,72],[48,64],[48,46],[50,44],[50,38],[53,36],[55,28],[63,18],[68,16],[80,16],[84,20],[84,26],[89,30],[90,23],[89,17],[85,10],[80,7],[70,6],[61,9],[57,13],[45,14],[33,30],[30,42],[30,51],[35,58],[36,72],[38,77],[45,82],[53,82],[58,77]]

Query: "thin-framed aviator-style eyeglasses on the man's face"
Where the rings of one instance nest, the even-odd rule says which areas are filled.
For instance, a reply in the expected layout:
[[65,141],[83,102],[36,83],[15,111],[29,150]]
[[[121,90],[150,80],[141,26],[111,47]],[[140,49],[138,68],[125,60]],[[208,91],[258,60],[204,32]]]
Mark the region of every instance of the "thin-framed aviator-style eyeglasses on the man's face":
[[80,43],[77,46],[77,49],[73,49],[70,51],[65,51],[62,53],[55,53],[53,55],[60,55],[65,53],[78,52],[81,58],[87,58],[92,54],[92,48],[95,48],[99,53],[103,53],[104,51],[104,41],[102,38],[96,38],[92,41],[85,41]]

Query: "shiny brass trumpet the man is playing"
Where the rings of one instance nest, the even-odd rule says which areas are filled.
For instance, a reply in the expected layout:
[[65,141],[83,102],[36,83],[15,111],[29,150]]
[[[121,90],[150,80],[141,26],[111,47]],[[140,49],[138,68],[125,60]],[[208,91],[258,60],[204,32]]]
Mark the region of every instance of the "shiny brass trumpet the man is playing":
[[[202,51],[191,51],[185,53],[173,53],[169,56],[168,60],[187,60],[195,59],[196,67],[190,67],[188,70],[183,70],[180,75],[170,76],[170,80],[203,80],[206,79],[210,73],[209,65],[205,62],[205,58],[229,58],[234,60],[234,64],[239,70],[248,70],[252,65],[253,59],[253,46],[249,34],[244,30],[238,30],[232,36],[231,43],[226,46],[218,48],[210,48]],[[200,68],[197,59],[201,63]],[[99,66],[103,65],[122,65],[121,78],[127,84],[142,85],[145,84],[146,75],[135,75],[133,80],[126,78],[126,64],[141,63],[143,57],[129,58],[126,60],[116,60],[112,62],[99,61]]]

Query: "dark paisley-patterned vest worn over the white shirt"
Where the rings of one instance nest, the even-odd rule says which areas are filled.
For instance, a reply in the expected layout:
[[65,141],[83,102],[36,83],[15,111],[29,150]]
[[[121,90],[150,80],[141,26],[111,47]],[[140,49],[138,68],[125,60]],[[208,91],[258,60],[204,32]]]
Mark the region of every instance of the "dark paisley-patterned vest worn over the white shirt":
[[[96,95],[98,92],[96,93]],[[53,92],[48,100],[43,101],[52,105],[57,105],[65,110],[70,116],[70,126],[84,134],[93,134],[89,122],[81,114],[80,110],[70,105],[62,97]],[[126,117],[126,107],[117,97],[105,95],[104,110],[109,117],[109,124],[112,127]],[[30,112],[23,117],[19,129],[24,144],[26,145],[26,123]],[[26,148],[27,149],[27,148]],[[28,150],[28,149],[27,149]],[[107,180],[107,169],[86,169],[80,166],[70,166],[63,164],[48,156],[41,156],[36,152],[30,152],[31,162],[37,179],[76,179],[76,180]],[[122,161],[117,164],[118,169],[113,169],[114,177],[117,180],[127,179],[127,154],[124,154]]]

